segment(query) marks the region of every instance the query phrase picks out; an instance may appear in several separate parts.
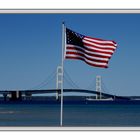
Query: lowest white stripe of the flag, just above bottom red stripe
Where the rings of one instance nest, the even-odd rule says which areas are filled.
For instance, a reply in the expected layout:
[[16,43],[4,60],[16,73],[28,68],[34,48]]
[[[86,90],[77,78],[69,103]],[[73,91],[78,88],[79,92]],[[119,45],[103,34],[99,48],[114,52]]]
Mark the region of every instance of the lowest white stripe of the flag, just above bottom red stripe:
[[82,59],[84,59],[85,61],[87,61],[87,62],[89,62],[89,63],[91,63],[91,64],[107,66],[107,63],[90,61],[90,60],[88,60],[88,59],[86,59],[85,57],[82,57],[82,56],[80,56],[80,55],[66,54],[66,56],[70,56],[70,57],[79,57],[79,58],[82,58]]

